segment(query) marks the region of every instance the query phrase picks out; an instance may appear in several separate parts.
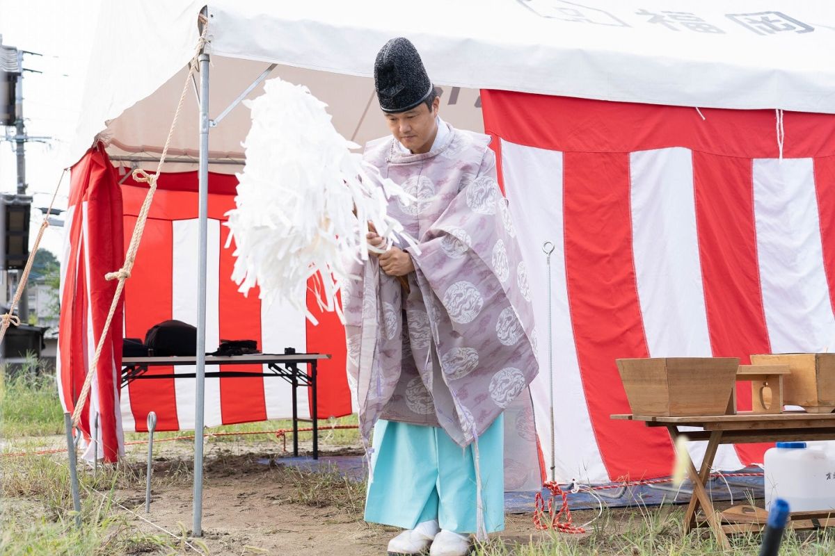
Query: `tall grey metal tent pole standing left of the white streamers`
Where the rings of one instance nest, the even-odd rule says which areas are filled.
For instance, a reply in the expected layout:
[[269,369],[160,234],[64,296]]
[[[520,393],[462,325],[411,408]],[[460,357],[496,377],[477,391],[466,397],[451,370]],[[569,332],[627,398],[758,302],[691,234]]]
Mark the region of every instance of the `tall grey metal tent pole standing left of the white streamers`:
[[203,404],[205,393],[206,343],[206,246],[209,203],[209,54],[200,52],[200,170],[198,197],[200,198],[200,249],[197,263],[197,368],[195,378],[195,496],[192,535],[203,536]]

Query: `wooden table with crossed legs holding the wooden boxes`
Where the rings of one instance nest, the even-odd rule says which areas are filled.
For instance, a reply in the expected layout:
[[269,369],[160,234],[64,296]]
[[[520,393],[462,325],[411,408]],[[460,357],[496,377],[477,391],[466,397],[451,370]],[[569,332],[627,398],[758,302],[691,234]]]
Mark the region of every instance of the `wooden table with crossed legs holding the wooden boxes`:
[[[711,497],[705,488],[711,476],[711,466],[716,458],[719,444],[786,442],[802,440],[835,439],[835,413],[786,412],[777,414],[737,413],[736,415],[708,415],[699,417],[659,417],[651,415],[612,415],[613,419],[642,421],[647,427],[665,427],[673,443],[680,435],[690,440],[706,440],[707,448],[701,468],[689,461],[687,473],[693,483],[693,493],[685,513],[685,531],[697,527],[696,510],[701,506],[707,523],[710,524],[716,538],[724,548],[730,548],[726,533],[740,533],[751,528],[740,524],[723,524],[716,513]],[[681,431],[681,427],[701,427],[700,431]],[[689,456],[688,456],[689,458]],[[802,523],[795,520],[816,521],[823,518],[823,525],[835,524],[835,518],[828,519],[829,512],[805,512],[792,514],[792,525],[801,528]],[[751,525],[749,523],[749,525]]]

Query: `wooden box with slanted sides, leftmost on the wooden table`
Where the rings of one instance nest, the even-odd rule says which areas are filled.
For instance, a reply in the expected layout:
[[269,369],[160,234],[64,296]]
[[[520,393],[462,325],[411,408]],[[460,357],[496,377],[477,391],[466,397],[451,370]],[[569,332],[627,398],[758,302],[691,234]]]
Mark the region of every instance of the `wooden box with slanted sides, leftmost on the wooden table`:
[[617,364],[632,413],[686,417],[725,414],[739,359],[618,359]]

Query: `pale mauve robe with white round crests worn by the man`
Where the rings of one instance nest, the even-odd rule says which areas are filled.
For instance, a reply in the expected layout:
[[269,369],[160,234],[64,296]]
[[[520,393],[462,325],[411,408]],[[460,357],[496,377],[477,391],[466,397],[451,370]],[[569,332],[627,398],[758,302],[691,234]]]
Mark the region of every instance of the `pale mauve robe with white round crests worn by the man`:
[[[443,124],[442,125],[446,125]],[[429,153],[396,139],[365,160],[417,198],[389,213],[417,238],[406,294],[376,258],[343,290],[348,376],[363,438],[377,418],[440,426],[461,446],[539,372],[527,273],[486,135],[449,128]]]

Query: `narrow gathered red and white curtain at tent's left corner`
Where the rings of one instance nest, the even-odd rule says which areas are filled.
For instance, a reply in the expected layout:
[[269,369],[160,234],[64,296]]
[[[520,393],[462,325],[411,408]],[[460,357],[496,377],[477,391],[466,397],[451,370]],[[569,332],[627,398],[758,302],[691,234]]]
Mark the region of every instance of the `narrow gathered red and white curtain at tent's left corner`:
[[[58,395],[67,412],[75,408],[116,290],[116,282],[106,281],[104,274],[118,270],[124,261],[122,197],[104,148],[90,149],[73,166],[71,176],[61,263],[57,372]],[[107,462],[119,458],[124,442],[119,412],[121,361],[119,304],[78,423],[89,443],[99,414],[99,454]]]

